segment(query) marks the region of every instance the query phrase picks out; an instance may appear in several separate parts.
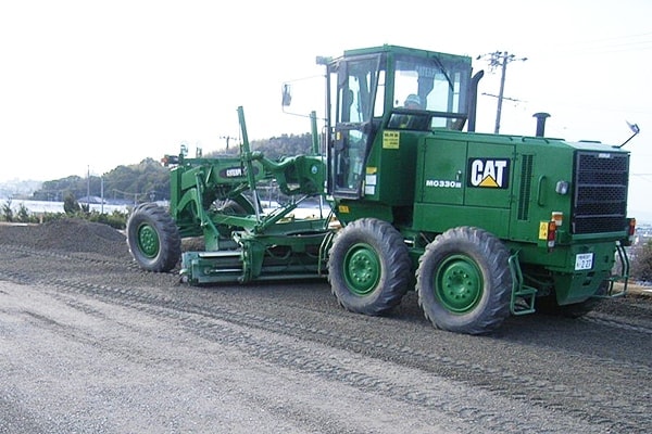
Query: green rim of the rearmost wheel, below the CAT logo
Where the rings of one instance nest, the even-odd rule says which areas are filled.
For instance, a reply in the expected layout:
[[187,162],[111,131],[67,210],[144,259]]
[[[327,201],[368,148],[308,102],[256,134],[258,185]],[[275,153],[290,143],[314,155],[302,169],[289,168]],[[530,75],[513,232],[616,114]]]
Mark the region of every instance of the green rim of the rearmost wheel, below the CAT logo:
[[447,258],[435,276],[435,294],[449,311],[473,310],[482,296],[482,273],[476,263],[464,255]]

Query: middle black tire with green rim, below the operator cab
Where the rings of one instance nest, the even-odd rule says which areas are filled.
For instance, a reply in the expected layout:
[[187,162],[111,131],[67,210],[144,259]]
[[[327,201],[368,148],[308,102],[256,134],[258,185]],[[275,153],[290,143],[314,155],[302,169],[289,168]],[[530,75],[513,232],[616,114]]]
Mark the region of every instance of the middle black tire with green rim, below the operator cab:
[[401,303],[411,275],[403,237],[387,221],[355,220],[338,232],[330,247],[328,280],[347,310],[386,314]]

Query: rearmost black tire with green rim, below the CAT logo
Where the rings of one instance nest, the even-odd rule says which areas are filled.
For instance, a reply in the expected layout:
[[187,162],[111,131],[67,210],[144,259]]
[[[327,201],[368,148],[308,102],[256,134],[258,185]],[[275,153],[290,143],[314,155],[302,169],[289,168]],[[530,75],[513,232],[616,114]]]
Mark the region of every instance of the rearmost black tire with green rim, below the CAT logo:
[[453,228],[427,245],[416,271],[418,304],[438,329],[481,334],[510,315],[510,254],[491,233]]

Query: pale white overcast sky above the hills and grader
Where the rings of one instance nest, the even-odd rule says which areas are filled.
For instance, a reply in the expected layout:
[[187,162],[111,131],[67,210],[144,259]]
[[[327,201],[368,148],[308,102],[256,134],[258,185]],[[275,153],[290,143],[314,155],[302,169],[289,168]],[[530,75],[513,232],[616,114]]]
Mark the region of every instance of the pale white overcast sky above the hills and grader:
[[472,56],[481,132],[496,124],[496,51],[515,56],[500,132],[532,136],[547,112],[547,136],[620,144],[637,124],[629,208],[652,216],[650,17],[649,0],[0,0],[0,182],[218,150],[239,136],[238,106],[250,140],[309,132],[283,112],[283,84],[314,93],[298,113],[321,111],[317,55],[390,43]]

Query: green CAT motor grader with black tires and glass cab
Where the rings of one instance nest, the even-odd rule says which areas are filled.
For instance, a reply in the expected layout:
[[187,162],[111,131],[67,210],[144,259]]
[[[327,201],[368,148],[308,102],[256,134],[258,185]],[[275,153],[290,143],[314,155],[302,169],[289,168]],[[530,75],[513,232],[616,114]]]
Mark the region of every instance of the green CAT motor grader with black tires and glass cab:
[[[170,209],[142,204],[127,225],[141,267],[190,284],[327,278],[346,309],[383,315],[416,291],[439,329],[479,334],[510,315],[566,316],[622,296],[629,152],[598,142],[475,131],[472,60],[397,46],[317,58],[326,71],[313,153],[167,157]],[[284,104],[291,101],[284,86]],[[408,99],[418,105],[403,106]],[[544,119],[540,116],[539,120]],[[288,199],[263,209],[260,186]],[[316,218],[296,218],[306,200]],[[205,248],[181,253],[183,238]],[[620,281],[624,290],[616,291]]]

